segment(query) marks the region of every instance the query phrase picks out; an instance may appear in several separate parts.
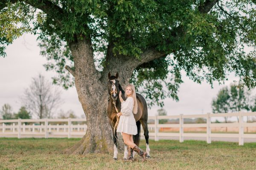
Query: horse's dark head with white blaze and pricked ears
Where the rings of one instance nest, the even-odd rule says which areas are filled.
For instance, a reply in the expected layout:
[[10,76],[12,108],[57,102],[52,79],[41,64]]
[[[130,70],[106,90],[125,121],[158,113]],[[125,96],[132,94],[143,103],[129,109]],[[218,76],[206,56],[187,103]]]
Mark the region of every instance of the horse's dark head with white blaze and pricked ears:
[[113,100],[116,100],[118,97],[118,94],[120,92],[119,89],[119,81],[118,78],[118,72],[116,72],[116,75],[111,75],[111,73],[108,73],[108,94],[111,95],[111,98]]

